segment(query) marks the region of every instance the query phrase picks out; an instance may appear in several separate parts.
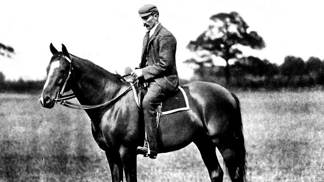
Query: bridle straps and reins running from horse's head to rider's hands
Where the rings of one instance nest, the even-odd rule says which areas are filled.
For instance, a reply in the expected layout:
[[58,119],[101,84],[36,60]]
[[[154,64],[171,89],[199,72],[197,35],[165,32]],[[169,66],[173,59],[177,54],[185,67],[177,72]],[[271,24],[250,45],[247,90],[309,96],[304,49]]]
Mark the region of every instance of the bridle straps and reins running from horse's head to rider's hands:
[[[63,95],[65,93],[64,90],[65,90],[66,84],[70,80],[71,75],[72,75],[72,71],[73,71],[72,61],[67,56],[63,55],[63,58],[65,58],[70,63],[69,74],[68,74],[68,76],[67,76],[67,78],[66,78],[66,80],[65,80],[65,82],[63,84],[62,89],[59,92],[57,92],[57,96],[56,96],[56,98],[54,100],[57,103],[65,106],[65,107],[69,107],[69,108],[73,108],[73,109],[93,109],[93,108],[98,108],[98,107],[101,107],[101,106],[104,106],[104,105],[108,105],[110,103],[113,103],[113,102],[117,101],[120,97],[124,96],[127,92],[131,91],[132,87],[137,82],[137,80],[136,80],[134,83],[130,83],[131,86],[126,91],[124,91],[123,93],[119,94],[115,98],[113,98],[113,99],[111,99],[111,100],[109,100],[109,101],[107,101],[105,103],[101,103],[101,104],[97,104],[97,105],[81,105],[81,104],[73,103],[73,102],[70,102],[70,101],[67,101],[67,100],[75,98],[76,96],[75,96],[74,93]],[[127,75],[124,75],[124,76],[121,76],[121,77],[124,78],[124,77],[127,77],[129,75],[130,74],[127,74]]]

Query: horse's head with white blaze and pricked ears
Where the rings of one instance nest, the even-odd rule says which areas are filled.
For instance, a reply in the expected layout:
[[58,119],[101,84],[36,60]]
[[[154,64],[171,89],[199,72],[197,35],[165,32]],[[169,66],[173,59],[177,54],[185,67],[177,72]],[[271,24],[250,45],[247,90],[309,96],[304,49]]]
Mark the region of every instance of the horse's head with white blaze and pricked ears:
[[62,52],[58,52],[52,44],[49,47],[53,56],[46,69],[47,79],[40,96],[40,103],[46,108],[54,106],[55,98],[62,88],[66,90],[64,87],[71,72],[71,58],[66,47],[62,44]]

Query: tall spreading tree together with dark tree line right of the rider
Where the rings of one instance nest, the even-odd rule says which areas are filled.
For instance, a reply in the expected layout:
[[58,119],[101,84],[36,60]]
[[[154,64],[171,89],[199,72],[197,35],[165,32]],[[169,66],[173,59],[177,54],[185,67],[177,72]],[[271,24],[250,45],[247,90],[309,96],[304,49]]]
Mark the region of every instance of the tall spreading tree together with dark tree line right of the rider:
[[[324,84],[324,62],[317,57],[304,61],[300,57],[286,56],[282,65],[243,57],[240,46],[263,49],[263,38],[249,29],[248,24],[233,11],[218,13],[210,18],[212,23],[187,48],[199,53],[199,59],[191,58],[184,63],[194,65],[192,80],[214,82],[239,88],[312,87]],[[214,58],[221,58],[226,66],[216,66]],[[234,60],[230,65],[229,60]]]

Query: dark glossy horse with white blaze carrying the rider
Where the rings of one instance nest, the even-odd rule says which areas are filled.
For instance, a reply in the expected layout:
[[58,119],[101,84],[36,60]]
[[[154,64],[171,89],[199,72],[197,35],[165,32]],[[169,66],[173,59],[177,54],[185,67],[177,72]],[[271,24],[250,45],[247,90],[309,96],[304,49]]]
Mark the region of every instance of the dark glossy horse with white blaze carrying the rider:
[[[92,134],[106,152],[112,182],[137,182],[137,151],[145,138],[141,109],[129,83],[92,62],[62,52],[50,45],[53,56],[47,67],[47,80],[40,102],[52,108],[62,90],[72,90],[83,105],[109,104],[85,109],[91,118]],[[71,73],[71,74],[69,74]],[[181,149],[191,142],[198,147],[212,182],[223,181],[216,156],[219,149],[233,182],[245,181],[246,151],[238,98],[225,88],[205,82],[186,85],[190,110],[164,115],[158,128],[159,153]],[[65,88],[65,89],[64,89]],[[123,94],[124,93],[124,94]]]

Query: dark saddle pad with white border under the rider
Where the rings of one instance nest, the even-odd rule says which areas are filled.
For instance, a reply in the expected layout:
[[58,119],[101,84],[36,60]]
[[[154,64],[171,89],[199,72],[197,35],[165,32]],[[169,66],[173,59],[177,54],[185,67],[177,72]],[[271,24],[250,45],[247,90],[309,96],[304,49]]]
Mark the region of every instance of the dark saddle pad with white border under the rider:
[[[170,114],[177,111],[182,111],[182,110],[189,110],[189,102],[186,94],[186,92],[187,93],[189,92],[189,89],[188,87],[178,87],[178,88],[179,88],[178,91],[174,95],[168,97],[165,101],[162,102],[161,110],[163,115]],[[138,98],[139,91],[137,86],[133,85],[132,89],[133,89],[135,101],[137,105],[141,107],[140,106],[141,101]]]

